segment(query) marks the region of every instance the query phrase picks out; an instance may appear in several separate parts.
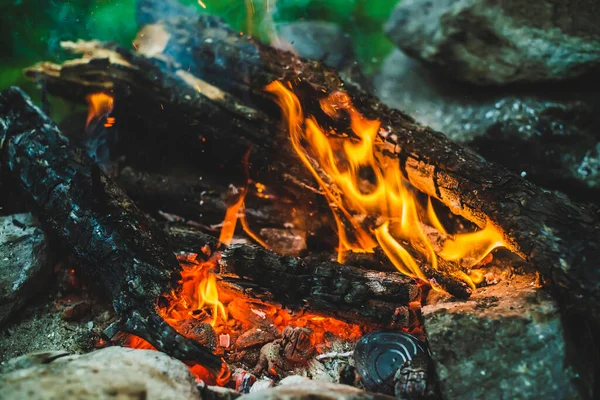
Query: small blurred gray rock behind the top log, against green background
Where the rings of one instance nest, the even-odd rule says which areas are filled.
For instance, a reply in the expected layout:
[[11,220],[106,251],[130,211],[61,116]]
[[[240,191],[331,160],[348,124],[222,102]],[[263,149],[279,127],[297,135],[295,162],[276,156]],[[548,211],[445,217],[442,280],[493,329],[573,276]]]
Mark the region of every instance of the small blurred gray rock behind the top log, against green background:
[[299,21],[277,26],[279,38],[290,44],[298,55],[323,61],[342,69],[354,61],[350,35],[337,24],[326,21]]

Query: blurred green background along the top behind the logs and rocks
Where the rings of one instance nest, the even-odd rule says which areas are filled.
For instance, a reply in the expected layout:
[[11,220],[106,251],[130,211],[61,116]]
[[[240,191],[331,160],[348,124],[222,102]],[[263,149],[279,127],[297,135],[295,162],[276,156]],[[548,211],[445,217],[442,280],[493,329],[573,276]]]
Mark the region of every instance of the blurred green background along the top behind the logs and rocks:
[[[398,0],[180,0],[201,13],[223,17],[235,29],[266,41],[267,8],[278,22],[326,20],[338,23],[351,35],[355,53],[365,73],[377,69],[391,51],[383,24]],[[38,61],[60,61],[68,55],[60,41],[99,39],[131,47],[138,26],[136,0],[0,0],[0,90],[23,87],[36,98],[39,93],[21,73]],[[53,101],[53,105],[56,101]],[[64,105],[57,105],[60,114]],[[56,110],[58,108],[58,110]],[[57,117],[54,115],[54,117]]]

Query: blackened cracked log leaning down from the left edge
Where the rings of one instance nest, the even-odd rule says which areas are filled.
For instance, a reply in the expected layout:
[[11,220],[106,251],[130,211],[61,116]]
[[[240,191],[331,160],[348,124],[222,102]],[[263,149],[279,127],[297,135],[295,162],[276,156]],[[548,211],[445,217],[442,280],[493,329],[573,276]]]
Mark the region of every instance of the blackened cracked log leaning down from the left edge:
[[156,313],[180,269],[165,235],[18,88],[0,93],[0,165],[19,182],[45,230],[112,301],[125,331],[215,372],[222,362]]

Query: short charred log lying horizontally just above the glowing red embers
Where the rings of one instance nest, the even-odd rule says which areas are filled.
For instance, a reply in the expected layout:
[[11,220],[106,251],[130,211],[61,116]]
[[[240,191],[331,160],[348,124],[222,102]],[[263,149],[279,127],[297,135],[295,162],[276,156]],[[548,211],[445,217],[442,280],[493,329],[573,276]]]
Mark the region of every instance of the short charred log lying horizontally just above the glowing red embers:
[[[280,256],[251,245],[226,247],[191,227],[168,225],[174,249],[213,255],[219,252],[219,279],[246,295],[267,298],[291,309],[386,327],[407,327],[408,304],[421,293],[417,282],[399,272],[380,272],[331,261]],[[202,249],[202,247],[208,248]],[[414,321],[412,321],[414,322]]]

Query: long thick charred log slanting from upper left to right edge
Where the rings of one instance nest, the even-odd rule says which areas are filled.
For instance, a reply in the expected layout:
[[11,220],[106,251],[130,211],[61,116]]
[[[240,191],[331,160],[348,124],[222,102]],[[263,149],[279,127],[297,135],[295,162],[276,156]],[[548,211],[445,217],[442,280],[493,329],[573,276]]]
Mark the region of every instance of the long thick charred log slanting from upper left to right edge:
[[[487,162],[443,134],[386,107],[359,87],[345,84],[319,62],[260,44],[214,17],[163,13],[159,20],[153,11],[158,2],[142,3],[146,11],[140,8],[141,18],[150,24],[143,29],[138,52],[88,44],[83,59],[62,67],[40,64],[29,69],[28,76],[43,80],[55,94],[81,98],[90,90],[113,90],[127,104],[134,97],[139,99],[139,87],[146,85],[152,89],[143,93],[154,98],[156,114],[164,101],[175,106],[165,107],[171,108],[168,118],[182,121],[188,113],[187,121],[201,125],[215,142],[233,136],[244,145],[253,144],[260,150],[259,167],[270,165],[266,171],[274,171],[272,175],[280,178],[294,176],[298,187],[310,186],[312,181],[304,181],[306,171],[299,163],[287,161],[294,160],[293,153],[288,152],[286,135],[273,128],[278,110],[262,89],[274,80],[301,78],[317,88],[315,92],[346,91],[363,115],[381,121],[379,140],[414,187],[479,226],[495,225],[504,233],[509,248],[540,271],[569,309],[600,318],[596,209],[573,203]],[[167,83],[172,90],[165,90]],[[314,105],[310,97],[301,100],[306,108]],[[140,115],[148,114],[135,107]],[[215,115],[227,116],[230,129],[222,129],[222,124],[215,128],[214,118],[207,118]],[[274,149],[282,157],[273,157]],[[292,169],[286,175],[288,168]]]

